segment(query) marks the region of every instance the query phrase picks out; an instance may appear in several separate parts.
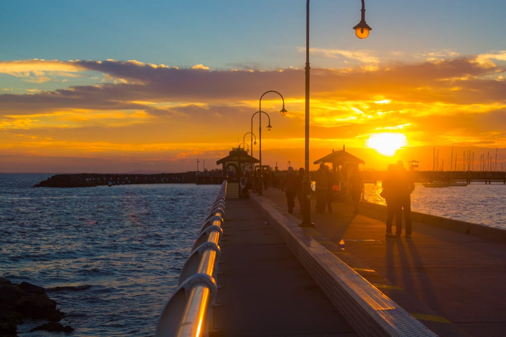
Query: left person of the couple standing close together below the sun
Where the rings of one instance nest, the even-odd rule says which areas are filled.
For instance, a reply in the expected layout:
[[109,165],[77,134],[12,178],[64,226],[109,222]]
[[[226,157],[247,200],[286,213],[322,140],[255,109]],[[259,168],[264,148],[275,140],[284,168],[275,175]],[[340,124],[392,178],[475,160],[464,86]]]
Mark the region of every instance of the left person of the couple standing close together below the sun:
[[[387,237],[399,236],[402,231],[402,183],[399,179],[398,168],[395,164],[388,166],[387,177],[382,182],[381,196],[387,203]],[[396,233],[392,233],[392,223],[395,217]]]

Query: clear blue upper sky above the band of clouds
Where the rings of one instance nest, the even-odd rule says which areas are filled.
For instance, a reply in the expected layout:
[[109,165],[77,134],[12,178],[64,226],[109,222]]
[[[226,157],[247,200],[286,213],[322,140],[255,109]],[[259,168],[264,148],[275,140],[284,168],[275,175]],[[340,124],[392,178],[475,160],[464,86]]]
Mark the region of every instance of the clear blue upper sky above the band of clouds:
[[[367,1],[369,39],[351,27],[359,0],[311,3],[311,47],[369,50],[382,60],[501,50],[506,3]],[[304,66],[305,1],[11,1],[0,5],[2,59],[138,60],[213,69]],[[367,42],[365,42],[367,41]],[[298,52],[298,53],[297,53]],[[406,58],[404,58],[404,55]],[[341,61],[341,62],[340,62]],[[343,60],[312,58],[315,66]]]

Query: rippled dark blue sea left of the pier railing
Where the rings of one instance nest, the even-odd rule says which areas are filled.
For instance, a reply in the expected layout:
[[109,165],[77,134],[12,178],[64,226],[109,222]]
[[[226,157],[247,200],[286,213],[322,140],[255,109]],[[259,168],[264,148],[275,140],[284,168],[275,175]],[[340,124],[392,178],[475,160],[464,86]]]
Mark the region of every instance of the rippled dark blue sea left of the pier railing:
[[0,174],[0,277],[45,287],[73,336],[154,335],[220,185],[31,187],[50,176]]

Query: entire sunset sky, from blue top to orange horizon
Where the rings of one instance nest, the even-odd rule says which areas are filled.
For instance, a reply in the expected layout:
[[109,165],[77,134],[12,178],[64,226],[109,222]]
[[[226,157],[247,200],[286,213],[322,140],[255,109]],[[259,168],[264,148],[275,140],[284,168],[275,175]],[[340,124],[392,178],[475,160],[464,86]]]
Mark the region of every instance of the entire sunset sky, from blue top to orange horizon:
[[[363,40],[360,9],[311,2],[310,168],[346,146],[361,169],[506,169],[506,2],[366,0]],[[264,95],[263,164],[303,167],[305,20],[302,0],[1,2],[0,172],[214,169],[243,139],[258,158],[268,90],[288,113]]]

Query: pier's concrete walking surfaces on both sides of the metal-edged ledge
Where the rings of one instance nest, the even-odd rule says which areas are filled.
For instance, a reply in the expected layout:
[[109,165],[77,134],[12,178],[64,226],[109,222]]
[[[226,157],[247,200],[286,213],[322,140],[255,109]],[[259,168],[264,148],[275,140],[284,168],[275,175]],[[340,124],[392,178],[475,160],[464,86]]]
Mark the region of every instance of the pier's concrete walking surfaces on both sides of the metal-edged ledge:
[[[221,306],[213,310],[217,335],[359,334],[272,226],[275,219],[302,222],[298,207],[288,214],[284,194],[275,188],[249,200],[227,200],[226,207]],[[273,209],[277,214],[269,214]],[[506,335],[504,231],[413,215],[411,238],[386,238],[384,208],[361,203],[353,214],[350,203],[334,202],[332,213],[312,212],[315,228],[301,230],[424,328],[440,336]],[[447,229],[455,226],[464,229]]]

